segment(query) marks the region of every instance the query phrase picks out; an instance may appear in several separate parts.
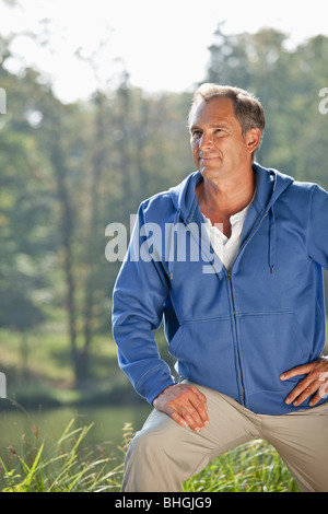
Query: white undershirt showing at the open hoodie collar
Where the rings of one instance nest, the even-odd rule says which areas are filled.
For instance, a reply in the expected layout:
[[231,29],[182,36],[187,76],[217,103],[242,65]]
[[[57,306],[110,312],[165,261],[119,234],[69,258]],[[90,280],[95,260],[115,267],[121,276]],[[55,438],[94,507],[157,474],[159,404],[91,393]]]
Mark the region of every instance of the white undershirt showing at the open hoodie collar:
[[236,214],[230,217],[230,237],[226,237],[226,235],[223,234],[222,223],[215,223],[215,225],[212,225],[209,218],[202,214],[212,248],[227,270],[231,270],[235,258],[237,257],[244,221],[250,203],[245,207],[245,209],[243,209],[241,212],[237,212]]

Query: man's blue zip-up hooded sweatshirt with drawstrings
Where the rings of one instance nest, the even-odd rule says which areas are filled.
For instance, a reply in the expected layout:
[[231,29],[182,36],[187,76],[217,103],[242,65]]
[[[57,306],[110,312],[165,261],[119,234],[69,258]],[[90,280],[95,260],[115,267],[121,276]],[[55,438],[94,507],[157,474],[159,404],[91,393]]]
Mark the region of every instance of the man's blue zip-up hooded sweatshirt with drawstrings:
[[328,194],[257,163],[253,168],[256,196],[231,271],[202,230],[199,172],[139,208],[114,288],[113,335],[121,370],[150,404],[176,383],[153,335],[164,319],[180,377],[256,413],[309,408],[308,400],[284,402],[304,376],[280,375],[324,350]]

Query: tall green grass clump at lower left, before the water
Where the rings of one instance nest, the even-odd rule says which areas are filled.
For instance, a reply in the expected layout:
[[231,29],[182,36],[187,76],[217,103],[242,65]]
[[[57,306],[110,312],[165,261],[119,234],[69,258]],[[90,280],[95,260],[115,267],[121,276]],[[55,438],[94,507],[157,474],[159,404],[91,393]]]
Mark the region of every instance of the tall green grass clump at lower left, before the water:
[[[72,419],[47,451],[44,442],[33,448],[25,444],[22,455],[10,447],[10,465],[0,458],[2,492],[119,491],[122,458],[104,456],[101,448],[83,446],[93,424],[74,428],[74,423]],[[128,428],[124,429],[124,441]],[[121,454],[125,446],[118,447]]]

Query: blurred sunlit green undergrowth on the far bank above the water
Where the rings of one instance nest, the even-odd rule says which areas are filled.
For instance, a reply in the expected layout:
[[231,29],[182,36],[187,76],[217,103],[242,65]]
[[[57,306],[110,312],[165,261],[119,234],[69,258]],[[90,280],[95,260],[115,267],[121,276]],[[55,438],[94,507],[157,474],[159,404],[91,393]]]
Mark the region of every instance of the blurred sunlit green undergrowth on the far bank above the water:
[[[131,387],[117,365],[116,346],[108,336],[96,336],[90,352],[90,377],[85,387],[74,388],[74,370],[68,358],[68,337],[62,322],[21,335],[0,329],[1,372],[7,376],[7,397],[35,409],[67,405],[103,405],[122,401]],[[119,398],[116,399],[115,398]]]

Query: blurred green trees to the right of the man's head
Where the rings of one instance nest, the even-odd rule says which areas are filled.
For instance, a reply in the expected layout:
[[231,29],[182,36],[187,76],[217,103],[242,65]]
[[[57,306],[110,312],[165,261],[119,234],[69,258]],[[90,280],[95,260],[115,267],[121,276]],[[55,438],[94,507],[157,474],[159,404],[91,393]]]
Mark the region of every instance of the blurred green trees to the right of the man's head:
[[327,116],[318,110],[328,84],[328,38],[290,47],[286,34],[263,28],[224,35],[218,26],[207,80],[251,91],[265,107],[267,128],[258,161],[297,179],[328,187]]

